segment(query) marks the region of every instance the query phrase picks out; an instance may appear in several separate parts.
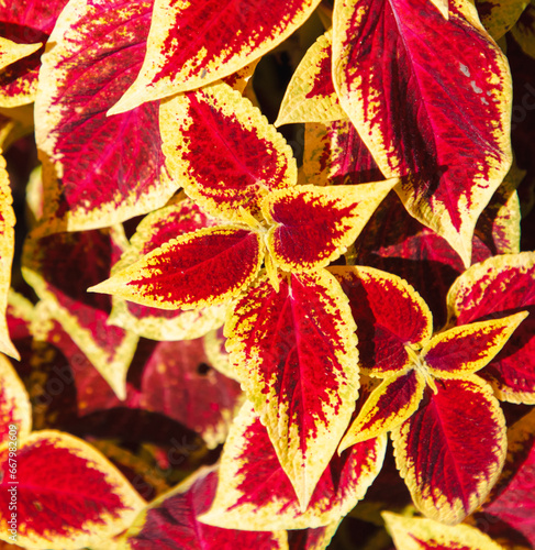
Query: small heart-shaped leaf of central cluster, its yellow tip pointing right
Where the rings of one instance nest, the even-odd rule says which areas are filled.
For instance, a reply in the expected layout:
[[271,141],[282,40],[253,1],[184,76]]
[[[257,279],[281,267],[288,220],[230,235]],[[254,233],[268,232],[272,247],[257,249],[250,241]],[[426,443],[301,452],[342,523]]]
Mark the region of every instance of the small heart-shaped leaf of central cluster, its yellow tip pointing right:
[[346,252],[398,179],[354,186],[297,186],[263,202],[274,262],[298,273],[324,267]]

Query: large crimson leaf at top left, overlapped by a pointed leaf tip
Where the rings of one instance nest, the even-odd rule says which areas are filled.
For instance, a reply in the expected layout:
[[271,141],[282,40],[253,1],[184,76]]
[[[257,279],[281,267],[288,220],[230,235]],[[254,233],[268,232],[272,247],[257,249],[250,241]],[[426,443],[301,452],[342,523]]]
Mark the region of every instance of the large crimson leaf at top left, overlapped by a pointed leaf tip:
[[71,0],[58,19],[35,106],[51,231],[148,212],[179,185],[165,168],[157,103],[105,116],[141,66],[152,8],[152,0]]

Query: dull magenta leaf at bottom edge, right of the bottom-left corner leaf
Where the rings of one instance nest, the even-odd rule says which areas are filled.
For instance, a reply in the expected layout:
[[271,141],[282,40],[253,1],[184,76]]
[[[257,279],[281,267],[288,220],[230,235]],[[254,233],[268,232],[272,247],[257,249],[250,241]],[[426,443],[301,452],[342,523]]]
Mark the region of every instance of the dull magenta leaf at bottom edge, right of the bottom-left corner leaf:
[[214,498],[218,470],[201,469],[180,485],[153,501],[123,536],[124,550],[288,550],[285,531],[221,529],[199,521]]

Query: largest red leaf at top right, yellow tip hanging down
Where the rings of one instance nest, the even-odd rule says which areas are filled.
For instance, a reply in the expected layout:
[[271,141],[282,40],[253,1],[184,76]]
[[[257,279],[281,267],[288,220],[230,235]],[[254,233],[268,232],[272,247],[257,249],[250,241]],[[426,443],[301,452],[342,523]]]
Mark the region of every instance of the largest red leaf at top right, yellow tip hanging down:
[[408,176],[397,188],[405,208],[468,266],[476,221],[512,158],[508,63],[476,8],[452,1],[445,19],[427,0],[343,0],[333,58],[342,107],[377,164]]

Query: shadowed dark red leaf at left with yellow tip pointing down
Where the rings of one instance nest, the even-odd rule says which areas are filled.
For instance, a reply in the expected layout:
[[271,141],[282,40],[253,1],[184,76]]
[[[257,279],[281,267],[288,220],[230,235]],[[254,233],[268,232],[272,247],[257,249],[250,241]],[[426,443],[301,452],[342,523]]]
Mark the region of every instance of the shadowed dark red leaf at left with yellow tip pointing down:
[[[110,274],[121,254],[119,230],[93,230],[29,238],[23,274],[37,296],[120,398],[137,336],[110,327],[111,300],[87,288]],[[124,239],[124,237],[123,237]]]

